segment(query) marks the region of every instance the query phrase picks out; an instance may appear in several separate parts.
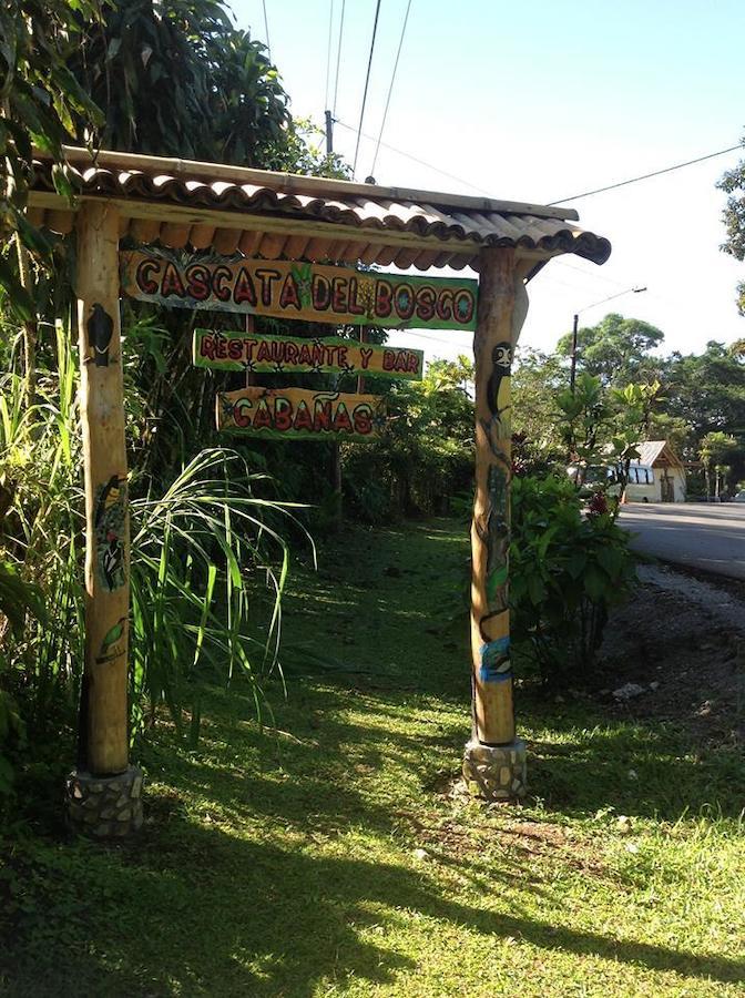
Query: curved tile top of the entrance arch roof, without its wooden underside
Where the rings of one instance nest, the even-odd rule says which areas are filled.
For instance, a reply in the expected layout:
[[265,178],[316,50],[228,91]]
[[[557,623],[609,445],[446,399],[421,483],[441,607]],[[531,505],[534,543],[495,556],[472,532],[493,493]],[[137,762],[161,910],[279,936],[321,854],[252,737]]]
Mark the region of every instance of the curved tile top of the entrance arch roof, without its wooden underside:
[[[94,164],[86,150],[69,149],[68,155],[82,196],[330,223],[348,226],[356,243],[382,245],[386,233],[407,233],[432,241],[431,248],[446,244],[440,248],[467,256],[458,261],[461,265],[474,263],[480,246],[511,246],[547,256],[573,253],[598,264],[611,253],[606,238],[572,224],[578,216],[569,208],[116,152],[99,153]],[[52,192],[49,162],[40,159],[34,165],[34,191]],[[469,245],[459,248],[459,243]]]

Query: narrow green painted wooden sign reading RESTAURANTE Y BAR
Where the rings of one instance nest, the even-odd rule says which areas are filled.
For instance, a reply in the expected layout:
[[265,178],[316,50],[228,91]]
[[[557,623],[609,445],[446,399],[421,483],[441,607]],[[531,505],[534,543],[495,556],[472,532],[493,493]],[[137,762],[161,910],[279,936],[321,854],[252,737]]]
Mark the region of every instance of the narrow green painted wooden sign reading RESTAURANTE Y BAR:
[[370,374],[420,381],[422,350],[378,346],[351,339],[302,336],[264,336],[257,333],[213,333],[195,329],[193,360],[196,367],[220,370],[275,373]]

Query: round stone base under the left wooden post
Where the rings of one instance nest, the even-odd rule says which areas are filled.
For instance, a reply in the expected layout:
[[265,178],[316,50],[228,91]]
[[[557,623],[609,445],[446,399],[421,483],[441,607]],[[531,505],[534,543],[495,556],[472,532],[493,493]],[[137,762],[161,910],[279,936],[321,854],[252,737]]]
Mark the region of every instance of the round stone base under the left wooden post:
[[142,828],[142,771],[129,766],[116,776],[73,771],[65,786],[68,827],[101,841],[124,838]]

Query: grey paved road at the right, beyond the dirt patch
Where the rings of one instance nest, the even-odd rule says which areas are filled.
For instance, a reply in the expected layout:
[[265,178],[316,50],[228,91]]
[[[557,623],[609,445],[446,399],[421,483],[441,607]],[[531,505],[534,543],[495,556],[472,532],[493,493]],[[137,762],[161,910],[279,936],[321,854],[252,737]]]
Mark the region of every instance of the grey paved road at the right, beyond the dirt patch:
[[745,579],[745,503],[630,502],[619,525],[663,561]]

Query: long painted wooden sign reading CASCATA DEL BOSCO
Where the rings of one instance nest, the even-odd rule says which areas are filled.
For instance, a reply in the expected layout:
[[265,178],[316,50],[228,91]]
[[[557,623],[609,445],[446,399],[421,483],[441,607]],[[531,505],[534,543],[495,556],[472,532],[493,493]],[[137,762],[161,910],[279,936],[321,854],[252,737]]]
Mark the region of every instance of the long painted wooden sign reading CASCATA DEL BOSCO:
[[121,286],[133,298],[338,325],[474,329],[478,282],[363,273],[309,263],[177,262],[156,252],[121,254]]

